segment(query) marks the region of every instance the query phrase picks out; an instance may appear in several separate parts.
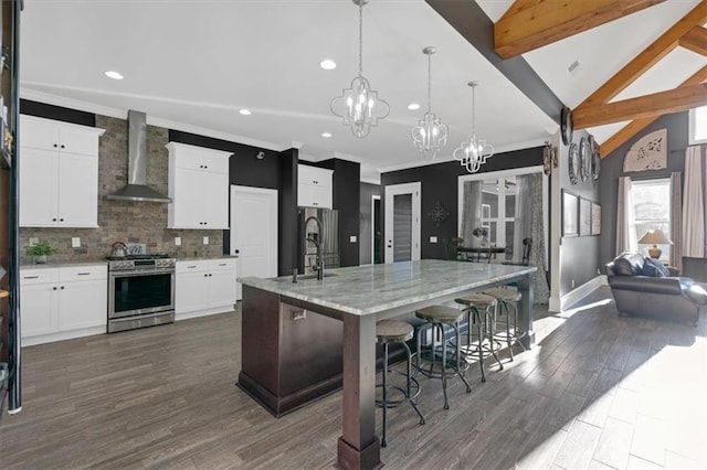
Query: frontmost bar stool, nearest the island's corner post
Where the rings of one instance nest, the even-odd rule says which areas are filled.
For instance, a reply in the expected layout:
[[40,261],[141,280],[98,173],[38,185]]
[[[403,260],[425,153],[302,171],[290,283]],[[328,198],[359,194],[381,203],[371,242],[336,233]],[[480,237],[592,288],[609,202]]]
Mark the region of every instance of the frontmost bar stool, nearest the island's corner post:
[[[424,425],[424,416],[420,413],[420,408],[418,408],[418,404],[414,399],[420,395],[420,383],[416,378],[412,376],[411,363],[412,363],[412,353],[410,348],[408,348],[407,341],[410,341],[413,337],[414,329],[411,324],[408,324],[403,321],[397,320],[381,320],[376,323],[376,340],[378,344],[383,348],[383,371],[382,371],[382,383],[380,385],[376,385],[377,387],[382,388],[382,398],[377,399],[376,404],[383,408],[383,437],[381,441],[381,446],[388,446],[387,440],[387,428],[388,428],[388,408],[394,408],[403,402],[410,402],[414,410],[420,416],[420,424]],[[390,385],[388,383],[388,373],[399,373],[394,370],[388,370],[388,346],[390,344],[402,344],[405,349],[407,354],[407,363],[408,367],[405,370],[405,386],[399,385]],[[394,388],[398,392],[402,393],[401,399],[389,399],[388,398],[388,388]]]

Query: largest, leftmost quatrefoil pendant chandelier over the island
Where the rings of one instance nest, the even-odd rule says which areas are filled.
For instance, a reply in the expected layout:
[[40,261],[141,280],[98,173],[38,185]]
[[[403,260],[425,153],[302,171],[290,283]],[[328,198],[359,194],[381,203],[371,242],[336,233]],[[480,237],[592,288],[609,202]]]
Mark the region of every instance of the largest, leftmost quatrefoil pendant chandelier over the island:
[[329,107],[335,116],[351,127],[354,136],[362,139],[371,127],[378,126],[378,119],[388,117],[390,106],[378,98],[378,92],[371,89],[370,83],[363,77],[363,6],[368,0],[351,1],[358,6],[358,75],[341,96],[331,100]]

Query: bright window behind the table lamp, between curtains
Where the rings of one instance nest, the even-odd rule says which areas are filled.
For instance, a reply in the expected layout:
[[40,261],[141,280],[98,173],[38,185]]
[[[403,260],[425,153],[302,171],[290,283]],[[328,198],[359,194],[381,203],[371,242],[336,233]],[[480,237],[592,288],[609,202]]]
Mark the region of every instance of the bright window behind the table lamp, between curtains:
[[[659,228],[665,236],[671,237],[671,179],[636,180],[631,182],[631,197],[633,200],[633,225],[636,241],[647,231]],[[647,250],[648,246],[640,245],[640,249]],[[669,245],[658,245],[663,252],[661,259],[667,261],[671,256]],[[647,253],[647,252],[646,252]]]

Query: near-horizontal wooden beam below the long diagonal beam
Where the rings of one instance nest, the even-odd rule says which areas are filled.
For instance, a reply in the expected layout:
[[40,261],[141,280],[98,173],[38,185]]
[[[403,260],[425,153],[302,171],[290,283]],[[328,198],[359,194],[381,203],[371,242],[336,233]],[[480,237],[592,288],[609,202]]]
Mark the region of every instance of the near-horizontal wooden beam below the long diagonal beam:
[[707,105],[707,84],[689,85],[572,111],[576,129],[685,111]]

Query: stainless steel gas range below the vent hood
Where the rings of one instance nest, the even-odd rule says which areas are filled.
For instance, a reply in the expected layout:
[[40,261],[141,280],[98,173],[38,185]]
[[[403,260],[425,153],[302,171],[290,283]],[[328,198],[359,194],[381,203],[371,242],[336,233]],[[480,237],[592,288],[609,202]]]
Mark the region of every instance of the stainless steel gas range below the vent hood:
[[108,257],[108,333],[175,321],[175,258]]

